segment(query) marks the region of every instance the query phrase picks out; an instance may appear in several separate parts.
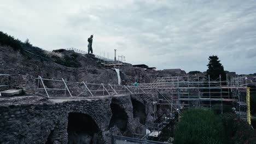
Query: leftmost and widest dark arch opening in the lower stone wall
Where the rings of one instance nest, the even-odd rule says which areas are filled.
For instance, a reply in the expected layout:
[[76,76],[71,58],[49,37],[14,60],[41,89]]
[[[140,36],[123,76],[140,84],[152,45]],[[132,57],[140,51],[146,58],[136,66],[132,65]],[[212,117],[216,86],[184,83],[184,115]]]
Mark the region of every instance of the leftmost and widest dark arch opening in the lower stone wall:
[[100,143],[100,130],[94,119],[85,113],[69,113],[67,131],[68,144]]

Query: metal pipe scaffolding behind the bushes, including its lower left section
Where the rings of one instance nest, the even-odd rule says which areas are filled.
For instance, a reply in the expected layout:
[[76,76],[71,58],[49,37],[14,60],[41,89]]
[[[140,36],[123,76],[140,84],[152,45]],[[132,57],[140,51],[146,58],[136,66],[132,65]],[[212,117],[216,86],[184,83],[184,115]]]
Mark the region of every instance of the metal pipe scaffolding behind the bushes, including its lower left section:
[[153,83],[138,83],[144,92],[159,97],[158,110],[154,116],[158,116],[155,122],[161,124],[160,130],[170,127],[170,122],[176,123],[174,118],[181,117],[184,109],[195,107],[205,107],[219,113],[228,109],[248,121],[251,114],[247,108],[247,85],[246,76],[228,75],[224,80],[221,76],[211,79],[210,76],[194,75],[158,77]]

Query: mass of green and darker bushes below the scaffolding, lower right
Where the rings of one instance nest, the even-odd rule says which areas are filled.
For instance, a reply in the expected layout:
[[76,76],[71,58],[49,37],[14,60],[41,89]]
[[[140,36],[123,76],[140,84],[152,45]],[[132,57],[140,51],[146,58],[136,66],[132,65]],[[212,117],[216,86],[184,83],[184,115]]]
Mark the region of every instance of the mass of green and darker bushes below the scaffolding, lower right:
[[256,143],[256,131],[235,113],[191,109],[184,111],[174,130],[174,144],[181,143]]

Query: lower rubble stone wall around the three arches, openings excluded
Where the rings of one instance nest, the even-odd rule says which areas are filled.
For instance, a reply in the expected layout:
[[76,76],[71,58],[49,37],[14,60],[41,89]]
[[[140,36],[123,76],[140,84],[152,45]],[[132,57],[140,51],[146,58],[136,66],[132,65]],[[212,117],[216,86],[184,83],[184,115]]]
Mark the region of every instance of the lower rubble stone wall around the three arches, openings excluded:
[[151,97],[132,94],[84,100],[50,100],[39,96],[0,98],[0,143],[45,143],[50,133],[54,143],[67,143],[69,112],[89,115],[100,129],[103,140],[110,143],[110,103],[118,104],[127,113],[127,130],[139,133],[136,129],[144,125],[133,118],[131,98],[143,101],[146,121],[152,122]]

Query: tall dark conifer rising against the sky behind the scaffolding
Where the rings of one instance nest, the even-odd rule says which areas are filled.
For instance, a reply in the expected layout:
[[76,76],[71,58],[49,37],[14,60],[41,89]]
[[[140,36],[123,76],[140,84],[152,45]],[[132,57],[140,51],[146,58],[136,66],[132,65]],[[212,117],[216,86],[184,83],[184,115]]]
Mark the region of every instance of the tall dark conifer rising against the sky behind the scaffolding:
[[226,80],[226,73],[224,71],[223,65],[220,63],[218,56],[210,56],[209,63],[207,64],[207,77],[210,75],[211,79],[216,80],[219,75],[222,76],[222,81]]

